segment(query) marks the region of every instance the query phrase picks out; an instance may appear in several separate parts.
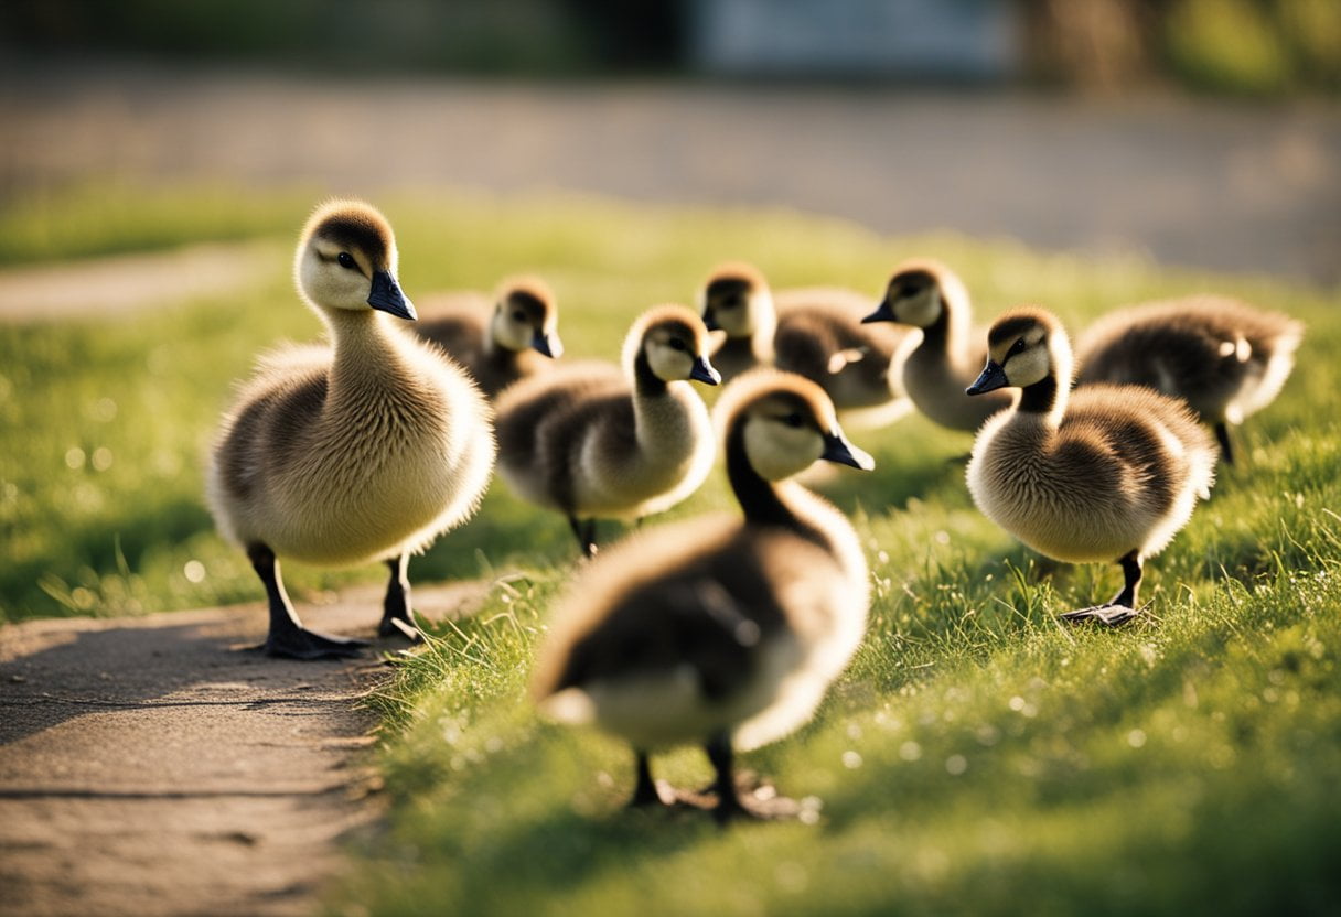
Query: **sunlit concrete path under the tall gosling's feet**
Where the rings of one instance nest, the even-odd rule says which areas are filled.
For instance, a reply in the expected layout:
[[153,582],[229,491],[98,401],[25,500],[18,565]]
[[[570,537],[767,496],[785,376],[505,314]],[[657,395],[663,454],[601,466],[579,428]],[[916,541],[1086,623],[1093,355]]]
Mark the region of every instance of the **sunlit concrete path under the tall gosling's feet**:
[[[420,589],[416,609],[481,593]],[[380,599],[302,613],[365,635]],[[264,631],[260,605],[0,629],[0,913],[314,912],[341,838],[380,812],[358,698],[386,670],[237,649]]]

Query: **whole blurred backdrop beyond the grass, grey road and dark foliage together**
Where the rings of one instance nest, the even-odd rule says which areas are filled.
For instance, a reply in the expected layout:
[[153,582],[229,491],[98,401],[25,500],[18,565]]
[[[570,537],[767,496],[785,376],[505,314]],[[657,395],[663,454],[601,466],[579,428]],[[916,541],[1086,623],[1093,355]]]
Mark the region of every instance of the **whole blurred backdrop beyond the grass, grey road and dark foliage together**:
[[559,188],[1341,280],[1337,0],[8,0],[0,62],[8,208]]

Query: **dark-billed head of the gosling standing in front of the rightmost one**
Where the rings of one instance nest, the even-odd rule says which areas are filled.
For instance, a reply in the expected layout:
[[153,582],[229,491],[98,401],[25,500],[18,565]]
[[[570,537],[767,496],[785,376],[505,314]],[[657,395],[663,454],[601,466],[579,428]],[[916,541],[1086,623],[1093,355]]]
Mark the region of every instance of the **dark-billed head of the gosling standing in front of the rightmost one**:
[[1049,377],[1070,385],[1071,346],[1066,330],[1047,310],[1021,306],[992,323],[987,332],[987,366],[967,394],[1025,389]]

